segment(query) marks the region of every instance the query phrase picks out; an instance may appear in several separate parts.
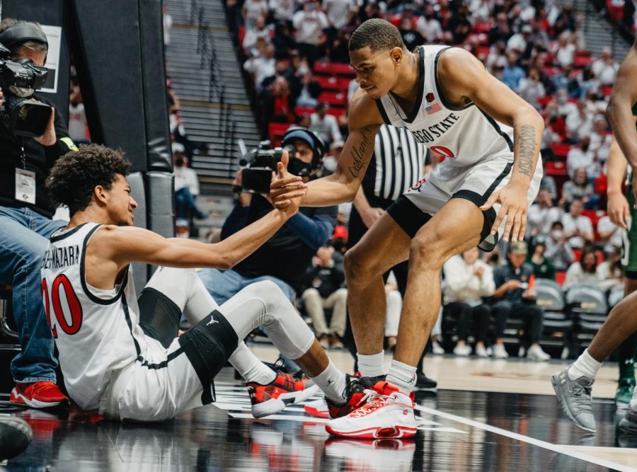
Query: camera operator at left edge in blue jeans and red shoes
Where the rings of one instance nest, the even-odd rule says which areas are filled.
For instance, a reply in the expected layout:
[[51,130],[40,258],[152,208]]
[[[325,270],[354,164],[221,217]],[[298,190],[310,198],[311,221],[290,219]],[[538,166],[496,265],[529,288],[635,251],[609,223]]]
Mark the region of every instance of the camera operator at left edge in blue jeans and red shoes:
[[[43,84],[48,42],[40,25],[5,18],[0,23],[0,44],[11,53],[10,58],[3,57],[4,71],[0,73],[3,111],[11,111],[8,105],[15,103],[21,103],[21,111],[29,110],[28,120],[20,123],[20,129],[15,113],[11,118],[3,113],[0,119],[0,284],[13,286],[13,316],[22,347],[11,363],[16,388],[10,400],[46,408],[67,397],[55,385],[57,360],[40,297],[42,255],[50,235],[65,222],[51,220],[44,183],[56,159],[76,147],[62,116],[49,101],[33,95],[34,88],[41,84],[25,88],[11,82],[10,67],[23,67],[32,77],[40,74]],[[36,125],[29,122],[35,118],[39,118],[44,132],[29,137],[22,127]]]

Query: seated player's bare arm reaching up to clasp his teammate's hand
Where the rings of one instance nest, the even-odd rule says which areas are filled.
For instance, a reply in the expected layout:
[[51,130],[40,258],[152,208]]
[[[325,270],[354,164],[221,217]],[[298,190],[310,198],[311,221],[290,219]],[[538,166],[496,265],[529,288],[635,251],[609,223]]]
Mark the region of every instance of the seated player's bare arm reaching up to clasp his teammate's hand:
[[[285,172],[287,153],[279,163],[277,178]],[[219,243],[207,244],[183,238],[163,238],[159,234],[132,226],[105,226],[91,239],[91,253],[119,270],[132,263],[149,263],[168,267],[216,267],[229,269],[268,241],[285,221],[297,213],[305,184],[301,178],[288,184],[288,202],[282,209],[272,209]],[[93,247],[91,247],[93,246]]]

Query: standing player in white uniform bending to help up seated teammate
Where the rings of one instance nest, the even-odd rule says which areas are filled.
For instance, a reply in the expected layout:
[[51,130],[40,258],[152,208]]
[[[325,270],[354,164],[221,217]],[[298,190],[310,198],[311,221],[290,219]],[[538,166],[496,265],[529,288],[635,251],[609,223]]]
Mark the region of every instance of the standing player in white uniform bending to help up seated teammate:
[[[383,123],[406,127],[418,142],[447,156],[345,256],[364,376],[382,369],[381,275],[408,259],[409,278],[386,381],[376,384],[367,403],[332,420],[327,429],[347,437],[409,437],[416,430],[411,400],[415,366],[440,308],[442,265],[474,246],[490,250],[500,234],[505,241],[523,237],[527,207],[541,180],[537,162],[544,122],[469,52],[444,46],[409,52],[387,21],[362,23],[352,33],[349,50],[362,90],[350,103],[348,141],[335,173],[310,183],[302,205],[352,200]],[[287,199],[280,189],[285,181],[272,183],[275,201]]]

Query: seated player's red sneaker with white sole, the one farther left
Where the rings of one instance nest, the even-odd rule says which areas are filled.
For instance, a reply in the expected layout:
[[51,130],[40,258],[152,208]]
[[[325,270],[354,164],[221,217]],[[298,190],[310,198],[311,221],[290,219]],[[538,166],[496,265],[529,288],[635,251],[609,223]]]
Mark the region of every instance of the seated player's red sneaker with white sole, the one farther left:
[[261,385],[256,382],[246,384],[254,418],[279,413],[287,405],[306,401],[319,391],[319,386],[309,380],[297,380],[281,371],[276,374],[277,376],[270,384]]

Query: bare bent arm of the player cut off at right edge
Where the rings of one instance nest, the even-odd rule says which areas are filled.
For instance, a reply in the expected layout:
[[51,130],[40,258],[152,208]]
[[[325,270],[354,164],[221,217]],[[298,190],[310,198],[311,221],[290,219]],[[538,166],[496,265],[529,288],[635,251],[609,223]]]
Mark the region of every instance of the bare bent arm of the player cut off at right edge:
[[637,128],[631,108],[637,102],[637,40],[621,63],[606,114],[614,137],[633,169],[637,169]]

